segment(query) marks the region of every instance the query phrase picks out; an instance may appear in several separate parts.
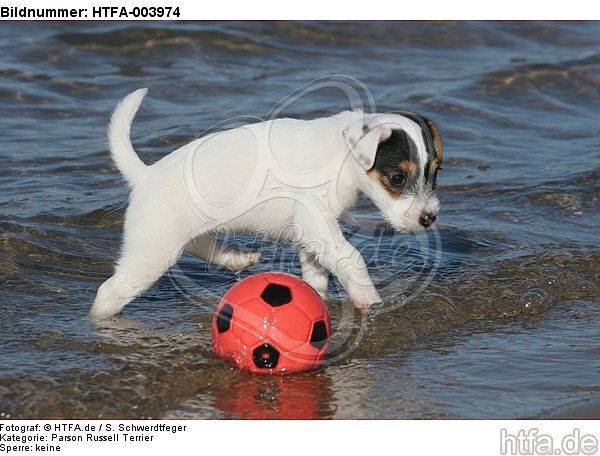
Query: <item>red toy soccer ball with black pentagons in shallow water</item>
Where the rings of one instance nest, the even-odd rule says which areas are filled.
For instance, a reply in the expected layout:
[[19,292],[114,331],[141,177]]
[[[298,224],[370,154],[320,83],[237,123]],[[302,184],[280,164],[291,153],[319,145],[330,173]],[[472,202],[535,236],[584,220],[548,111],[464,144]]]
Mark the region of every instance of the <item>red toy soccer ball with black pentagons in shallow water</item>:
[[291,374],[323,364],[330,334],[319,294],[292,275],[268,272],[225,294],[212,324],[212,350],[242,370]]

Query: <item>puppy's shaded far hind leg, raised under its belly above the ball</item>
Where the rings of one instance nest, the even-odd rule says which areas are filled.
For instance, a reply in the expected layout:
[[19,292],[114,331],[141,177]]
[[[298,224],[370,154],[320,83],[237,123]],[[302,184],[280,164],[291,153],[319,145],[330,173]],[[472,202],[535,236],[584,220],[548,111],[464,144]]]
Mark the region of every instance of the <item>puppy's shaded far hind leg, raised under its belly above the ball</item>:
[[241,271],[255,265],[260,260],[260,252],[244,252],[227,247],[210,234],[203,234],[191,240],[185,251],[198,258],[225,266],[231,271]]

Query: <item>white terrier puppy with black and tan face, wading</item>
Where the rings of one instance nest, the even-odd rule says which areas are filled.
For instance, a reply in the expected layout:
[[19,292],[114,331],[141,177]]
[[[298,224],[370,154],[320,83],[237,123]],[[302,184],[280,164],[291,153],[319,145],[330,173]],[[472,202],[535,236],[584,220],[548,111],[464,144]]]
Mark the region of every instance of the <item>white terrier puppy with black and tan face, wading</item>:
[[119,313],[183,252],[231,270],[259,261],[258,252],[217,244],[216,232],[292,241],[302,278],[317,292],[326,295],[331,271],[354,305],[368,308],[381,299],[340,230],[342,212],[362,193],[397,230],[414,233],[436,220],[442,143],[429,119],[345,111],[268,120],[209,134],[146,166],[130,140],[146,92],[123,99],[108,128],[111,157],[131,194],[120,259],[98,289],[92,319]]

